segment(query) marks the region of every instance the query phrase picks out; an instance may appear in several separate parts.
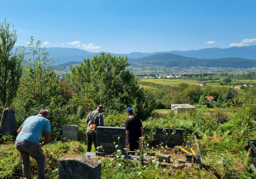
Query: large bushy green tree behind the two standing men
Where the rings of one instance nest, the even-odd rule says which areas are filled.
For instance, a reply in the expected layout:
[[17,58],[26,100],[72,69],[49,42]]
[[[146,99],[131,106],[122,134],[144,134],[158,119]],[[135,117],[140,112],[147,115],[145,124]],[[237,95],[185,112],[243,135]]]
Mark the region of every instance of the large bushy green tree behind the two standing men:
[[146,119],[154,110],[156,100],[151,91],[139,87],[134,74],[126,69],[128,65],[127,57],[102,52],[92,60],[84,59],[80,66],[71,67],[67,81],[76,90],[76,103],[86,98],[84,110],[98,104],[119,112],[133,107],[139,117]]

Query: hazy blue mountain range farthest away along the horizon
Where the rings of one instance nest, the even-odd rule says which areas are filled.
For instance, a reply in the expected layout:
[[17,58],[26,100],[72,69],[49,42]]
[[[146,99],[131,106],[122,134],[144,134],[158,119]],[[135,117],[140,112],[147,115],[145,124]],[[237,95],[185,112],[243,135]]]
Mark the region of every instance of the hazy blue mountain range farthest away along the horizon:
[[[60,59],[57,64],[66,63],[70,61],[81,61],[83,57],[92,58],[94,55],[99,55],[100,53],[88,52],[78,48],[61,48],[53,47],[46,48],[50,53],[50,57]],[[107,52],[106,52],[107,53]],[[128,56],[128,58],[143,58],[150,55],[156,55],[160,53],[172,53],[176,55],[182,55],[192,58],[248,58],[256,60],[256,45],[246,46],[246,47],[231,47],[231,48],[204,48],[201,50],[188,50],[188,51],[169,51],[169,52],[153,52],[153,53],[141,53],[132,52],[128,54],[117,54],[111,53],[112,55]]]

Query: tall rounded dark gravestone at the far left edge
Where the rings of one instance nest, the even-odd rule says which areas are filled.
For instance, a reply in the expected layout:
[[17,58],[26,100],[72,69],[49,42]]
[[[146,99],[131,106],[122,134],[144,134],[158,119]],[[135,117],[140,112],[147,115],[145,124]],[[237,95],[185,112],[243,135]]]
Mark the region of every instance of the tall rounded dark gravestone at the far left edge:
[[13,136],[17,134],[14,110],[12,110],[9,107],[4,109],[4,115],[2,119],[2,125],[1,125],[1,133],[4,135],[10,134]]

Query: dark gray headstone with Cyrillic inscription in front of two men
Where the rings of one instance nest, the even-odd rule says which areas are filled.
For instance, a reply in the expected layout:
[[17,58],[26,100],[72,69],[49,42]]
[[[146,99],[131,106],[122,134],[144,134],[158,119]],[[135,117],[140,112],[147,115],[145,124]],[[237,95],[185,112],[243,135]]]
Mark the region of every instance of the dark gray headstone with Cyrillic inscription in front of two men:
[[[125,131],[125,127],[98,126],[97,146],[102,146],[102,148],[98,148],[97,151],[104,153],[114,153],[117,150],[121,150],[124,152],[124,148],[126,148]],[[118,137],[120,137],[119,140]],[[115,148],[116,145],[118,145],[117,148]]]

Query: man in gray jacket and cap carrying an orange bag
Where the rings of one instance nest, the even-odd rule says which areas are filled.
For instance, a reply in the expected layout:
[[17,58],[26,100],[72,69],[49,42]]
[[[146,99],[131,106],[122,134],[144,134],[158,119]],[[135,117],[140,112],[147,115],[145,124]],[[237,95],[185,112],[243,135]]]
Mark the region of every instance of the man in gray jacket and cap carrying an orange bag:
[[87,118],[87,151],[90,152],[92,150],[92,142],[94,144],[94,147],[97,148],[97,134],[96,129],[97,126],[104,126],[103,121],[103,115],[102,111],[104,110],[104,107],[102,105],[99,105],[95,111],[91,111]]

